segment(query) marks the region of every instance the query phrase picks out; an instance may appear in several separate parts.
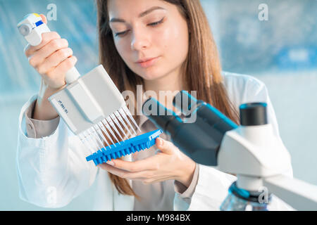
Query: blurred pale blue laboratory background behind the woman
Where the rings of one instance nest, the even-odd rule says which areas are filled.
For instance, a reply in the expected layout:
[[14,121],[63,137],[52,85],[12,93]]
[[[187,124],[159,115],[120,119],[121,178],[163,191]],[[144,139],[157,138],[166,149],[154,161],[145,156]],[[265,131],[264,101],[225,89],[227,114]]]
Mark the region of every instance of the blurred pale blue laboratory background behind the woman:
[[[317,185],[317,1],[201,0],[223,70],[263,81],[292,156],[294,177]],[[39,90],[16,25],[42,13],[68,39],[84,75],[98,65],[94,0],[0,0],[0,210],[51,210],[20,200],[16,175],[18,116]],[[54,15],[53,15],[53,14]],[[94,185],[58,210],[92,208]]]

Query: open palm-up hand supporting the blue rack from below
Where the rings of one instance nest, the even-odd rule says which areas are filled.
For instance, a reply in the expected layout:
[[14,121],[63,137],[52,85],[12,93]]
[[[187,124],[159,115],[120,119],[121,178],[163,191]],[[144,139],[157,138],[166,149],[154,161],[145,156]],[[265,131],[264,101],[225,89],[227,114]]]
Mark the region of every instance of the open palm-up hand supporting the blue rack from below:
[[196,163],[170,141],[157,138],[156,146],[161,151],[144,160],[127,162],[116,159],[99,167],[124,179],[139,180],[144,184],[175,179],[188,187],[192,182]]

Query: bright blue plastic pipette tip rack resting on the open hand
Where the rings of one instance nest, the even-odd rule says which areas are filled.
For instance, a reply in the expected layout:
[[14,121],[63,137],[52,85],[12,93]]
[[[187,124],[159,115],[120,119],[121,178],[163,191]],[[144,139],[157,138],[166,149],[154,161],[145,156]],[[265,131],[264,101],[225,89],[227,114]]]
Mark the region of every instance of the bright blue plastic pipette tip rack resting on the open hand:
[[116,143],[116,146],[106,146],[106,148],[101,148],[100,150],[97,150],[96,153],[87,156],[86,160],[93,160],[94,165],[99,165],[111,159],[120,158],[121,156],[130,155],[131,153],[151,148],[151,146],[154,146],[155,140],[162,134],[162,132],[161,129],[157,129],[135,136],[132,139],[120,141],[120,143]]

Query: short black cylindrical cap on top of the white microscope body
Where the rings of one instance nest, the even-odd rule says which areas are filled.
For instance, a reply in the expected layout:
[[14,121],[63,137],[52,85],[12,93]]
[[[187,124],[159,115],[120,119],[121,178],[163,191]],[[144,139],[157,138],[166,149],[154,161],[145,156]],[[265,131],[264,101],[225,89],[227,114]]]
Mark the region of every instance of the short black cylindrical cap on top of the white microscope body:
[[268,124],[266,103],[244,103],[240,105],[240,125],[258,126]]

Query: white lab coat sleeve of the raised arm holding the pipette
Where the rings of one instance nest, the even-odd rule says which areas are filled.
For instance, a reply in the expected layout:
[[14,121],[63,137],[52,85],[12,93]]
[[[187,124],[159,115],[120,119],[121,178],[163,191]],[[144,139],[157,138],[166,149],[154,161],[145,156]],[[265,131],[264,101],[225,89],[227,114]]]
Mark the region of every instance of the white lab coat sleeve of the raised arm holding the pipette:
[[19,195],[40,207],[63,207],[92,185],[97,174],[86,162],[89,150],[60,120],[50,136],[27,137],[25,110],[37,99],[32,96],[20,111],[16,166]]

